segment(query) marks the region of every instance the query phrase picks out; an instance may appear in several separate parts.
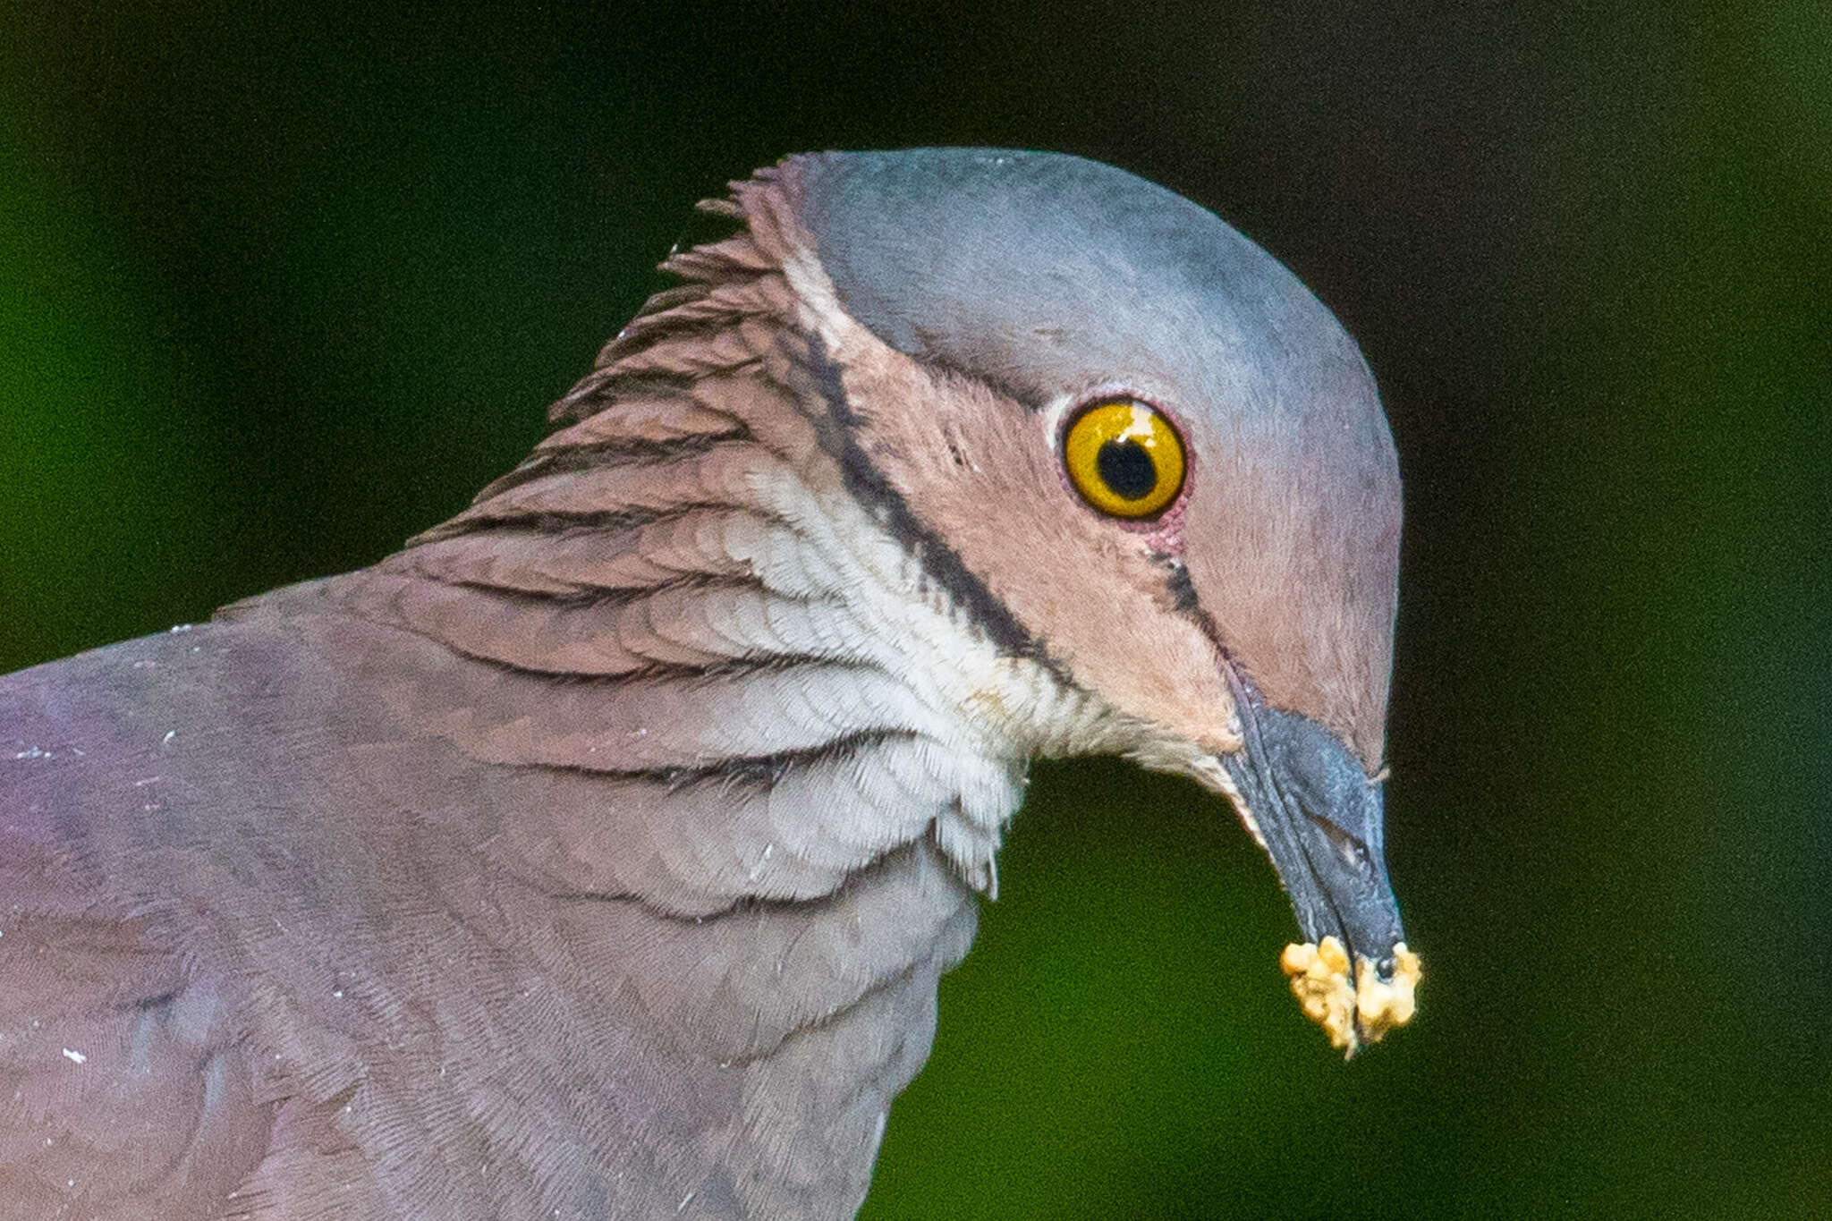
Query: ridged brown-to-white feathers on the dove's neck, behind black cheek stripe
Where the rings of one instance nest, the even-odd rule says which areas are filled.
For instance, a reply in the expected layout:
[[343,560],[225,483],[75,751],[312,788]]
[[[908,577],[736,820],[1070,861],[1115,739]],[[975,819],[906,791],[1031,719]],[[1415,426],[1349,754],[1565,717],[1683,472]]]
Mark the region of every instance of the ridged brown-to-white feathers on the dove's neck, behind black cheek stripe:
[[848,487],[768,222],[671,260],[575,423],[337,593],[467,663],[412,710],[463,754],[590,782],[518,831],[566,886],[703,915],[929,840],[991,890],[1039,727],[1099,710]]

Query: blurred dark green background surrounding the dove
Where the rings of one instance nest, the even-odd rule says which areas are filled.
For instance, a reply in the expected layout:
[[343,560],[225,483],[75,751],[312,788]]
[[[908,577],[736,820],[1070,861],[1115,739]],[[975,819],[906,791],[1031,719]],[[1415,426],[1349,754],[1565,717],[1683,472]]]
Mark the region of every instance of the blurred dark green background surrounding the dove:
[[867,1216],[1828,1217],[1832,18],[1400,7],[0,0],[0,670],[463,505],[755,165],[1103,157],[1381,379],[1423,1009],[1345,1067],[1222,804],[1044,765]]

